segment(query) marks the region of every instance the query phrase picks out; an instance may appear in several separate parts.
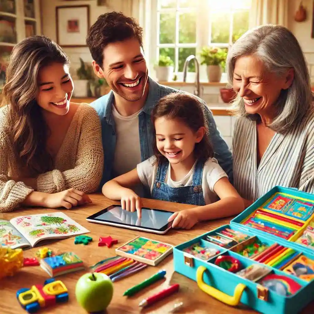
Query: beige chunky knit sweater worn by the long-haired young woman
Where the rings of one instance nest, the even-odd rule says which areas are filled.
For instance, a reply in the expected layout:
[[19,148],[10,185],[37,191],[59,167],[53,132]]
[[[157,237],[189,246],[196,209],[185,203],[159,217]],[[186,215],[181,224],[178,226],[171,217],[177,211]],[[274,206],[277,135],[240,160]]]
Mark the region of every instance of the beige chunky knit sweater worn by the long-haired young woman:
[[[7,178],[23,177],[8,136],[10,127],[8,106],[4,106],[0,109],[0,212],[13,210],[34,191],[23,182]],[[101,180],[103,163],[99,117],[94,108],[81,104],[55,157],[55,170],[38,176],[37,191],[55,193],[73,187],[94,192]]]

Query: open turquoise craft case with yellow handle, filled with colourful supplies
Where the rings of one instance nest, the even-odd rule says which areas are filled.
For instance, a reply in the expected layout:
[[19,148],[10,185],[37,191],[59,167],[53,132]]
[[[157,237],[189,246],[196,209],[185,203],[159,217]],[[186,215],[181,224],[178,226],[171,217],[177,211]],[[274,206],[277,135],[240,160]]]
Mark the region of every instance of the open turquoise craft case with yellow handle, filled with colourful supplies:
[[[248,238],[237,242],[228,230]],[[314,194],[277,186],[230,224],[175,246],[174,270],[229,306],[241,303],[263,314],[300,313],[314,301],[313,239]],[[186,253],[199,242],[219,253],[207,260]]]

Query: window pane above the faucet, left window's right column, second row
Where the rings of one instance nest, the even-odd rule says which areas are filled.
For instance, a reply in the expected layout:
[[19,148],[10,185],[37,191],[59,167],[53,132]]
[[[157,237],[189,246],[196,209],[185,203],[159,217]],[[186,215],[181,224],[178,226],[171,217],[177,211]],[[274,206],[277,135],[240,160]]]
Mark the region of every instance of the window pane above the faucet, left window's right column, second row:
[[196,43],[196,14],[182,13],[179,18],[179,43]]

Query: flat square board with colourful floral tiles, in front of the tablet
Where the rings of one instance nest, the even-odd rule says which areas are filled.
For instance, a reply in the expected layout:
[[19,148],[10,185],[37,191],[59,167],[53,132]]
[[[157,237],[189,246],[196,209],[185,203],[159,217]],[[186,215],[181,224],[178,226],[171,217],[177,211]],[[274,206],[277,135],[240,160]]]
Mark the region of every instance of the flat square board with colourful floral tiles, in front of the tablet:
[[156,266],[167,255],[172,253],[173,246],[144,237],[136,237],[116,248],[119,256],[130,257],[136,261]]

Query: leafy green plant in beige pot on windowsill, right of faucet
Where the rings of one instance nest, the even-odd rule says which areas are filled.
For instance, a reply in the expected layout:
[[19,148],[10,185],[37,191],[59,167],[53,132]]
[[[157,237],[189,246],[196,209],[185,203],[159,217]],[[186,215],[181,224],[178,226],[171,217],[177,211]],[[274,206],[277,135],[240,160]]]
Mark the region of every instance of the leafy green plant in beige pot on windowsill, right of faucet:
[[209,82],[220,82],[222,67],[225,67],[227,49],[203,47],[201,51],[201,65],[207,65]]

